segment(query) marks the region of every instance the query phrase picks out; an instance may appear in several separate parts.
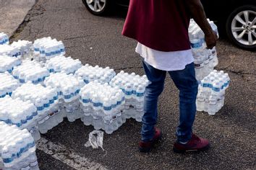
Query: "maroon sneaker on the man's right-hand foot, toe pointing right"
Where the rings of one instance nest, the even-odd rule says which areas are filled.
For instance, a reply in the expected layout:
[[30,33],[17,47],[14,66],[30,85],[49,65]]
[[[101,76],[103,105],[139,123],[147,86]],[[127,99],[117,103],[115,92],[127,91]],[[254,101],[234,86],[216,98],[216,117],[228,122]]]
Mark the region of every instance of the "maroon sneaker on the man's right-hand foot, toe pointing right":
[[192,138],[186,143],[174,143],[174,152],[184,153],[189,151],[205,151],[210,147],[207,139],[199,138],[197,135],[192,134]]

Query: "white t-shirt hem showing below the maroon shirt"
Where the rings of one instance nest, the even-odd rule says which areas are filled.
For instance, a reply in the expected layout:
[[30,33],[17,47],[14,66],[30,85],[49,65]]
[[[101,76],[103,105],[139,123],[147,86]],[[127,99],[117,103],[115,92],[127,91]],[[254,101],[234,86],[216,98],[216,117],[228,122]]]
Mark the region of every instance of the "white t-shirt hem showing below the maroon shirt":
[[194,62],[191,49],[163,52],[153,50],[138,42],[135,51],[144,58],[145,62],[163,71],[183,70],[187,64]]

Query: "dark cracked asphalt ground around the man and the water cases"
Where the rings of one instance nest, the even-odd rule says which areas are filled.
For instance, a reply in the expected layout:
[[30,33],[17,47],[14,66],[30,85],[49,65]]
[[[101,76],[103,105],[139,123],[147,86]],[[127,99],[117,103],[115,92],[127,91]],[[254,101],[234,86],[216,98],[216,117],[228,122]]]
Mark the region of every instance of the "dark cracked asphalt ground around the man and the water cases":
[[[40,37],[62,40],[67,56],[83,64],[109,66],[116,72],[144,74],[135,40],[121,35],[125,9],[107,17],[90,14],[81,0],[38,0],[25,22],[12,36],[33,41]],[[128,120],[111,135],[103,148],[85,148],[92,126],[64,120],[42,135],[37,150],[40,169],[256,169],[256,54],[218,40],[217,69],[229,73],[231,84],[225,105],[215,115],[197,112],[194,131],[208,138],[211,148],[202,153],[172,151],[179,118],[178,90],[170,77],[158,104],[158,127],[163,140],[151,153],[139,153],[140,122]]]

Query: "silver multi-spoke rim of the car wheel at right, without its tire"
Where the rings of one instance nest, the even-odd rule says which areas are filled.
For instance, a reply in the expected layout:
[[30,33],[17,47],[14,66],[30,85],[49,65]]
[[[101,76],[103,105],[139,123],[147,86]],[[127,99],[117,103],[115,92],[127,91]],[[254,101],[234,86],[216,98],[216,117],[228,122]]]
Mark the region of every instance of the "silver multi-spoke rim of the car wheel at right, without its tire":
[[231,22],[231,32],[236,41],[243,45],[256,45],[256,12],[243,11]]

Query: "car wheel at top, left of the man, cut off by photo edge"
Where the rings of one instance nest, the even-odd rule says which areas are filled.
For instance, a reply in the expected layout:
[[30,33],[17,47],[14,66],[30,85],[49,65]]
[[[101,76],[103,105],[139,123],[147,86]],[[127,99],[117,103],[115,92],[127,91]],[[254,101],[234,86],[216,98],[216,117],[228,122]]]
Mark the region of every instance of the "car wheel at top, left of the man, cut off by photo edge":
[[82,0],[82,3],[90,13],[98,16],[106,15],[111,11],[111,0]]

